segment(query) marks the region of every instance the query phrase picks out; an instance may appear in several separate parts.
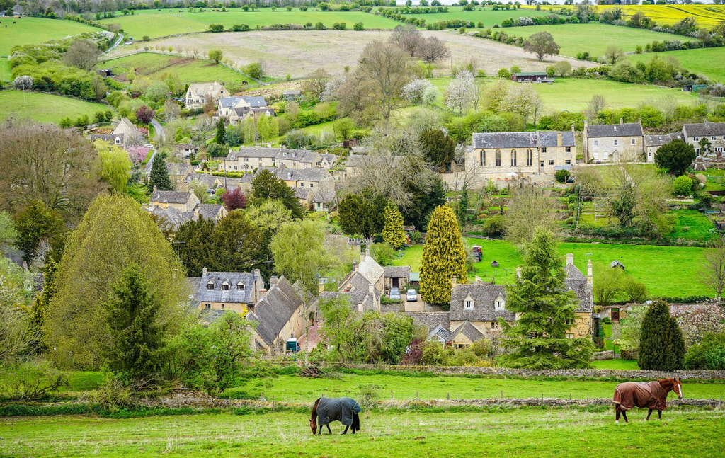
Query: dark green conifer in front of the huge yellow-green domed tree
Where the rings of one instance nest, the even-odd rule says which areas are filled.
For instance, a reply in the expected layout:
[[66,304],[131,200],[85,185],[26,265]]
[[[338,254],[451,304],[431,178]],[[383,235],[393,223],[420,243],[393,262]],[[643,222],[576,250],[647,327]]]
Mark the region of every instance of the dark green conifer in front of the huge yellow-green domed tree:
[[105,354],[109,367],[128,381],[148,382],[158,372],[165,325],[159,320],[161,304],[138,265],[123,270],[112,286],[107,307],[111,339]]

